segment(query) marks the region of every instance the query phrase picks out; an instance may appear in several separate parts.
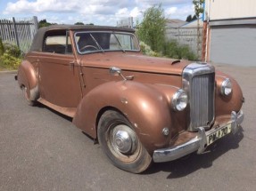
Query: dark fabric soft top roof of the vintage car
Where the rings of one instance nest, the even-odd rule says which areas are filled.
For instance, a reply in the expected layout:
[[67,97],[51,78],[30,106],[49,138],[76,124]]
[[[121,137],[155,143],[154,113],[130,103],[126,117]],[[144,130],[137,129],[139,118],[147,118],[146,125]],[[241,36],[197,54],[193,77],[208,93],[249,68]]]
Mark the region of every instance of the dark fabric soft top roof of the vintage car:
[[51,25],[45,28],[39,28],[37,34],[34,37],[33,43],[30,47],[29,52],[42,52],[42,45],[44,43],[45,32],[51,30],[110,30],[110,31],[120,31],[120,32],[131,32],[134,33],[135,30],[131,28],[116,28],[108,26],[95,26],[95,25]]

